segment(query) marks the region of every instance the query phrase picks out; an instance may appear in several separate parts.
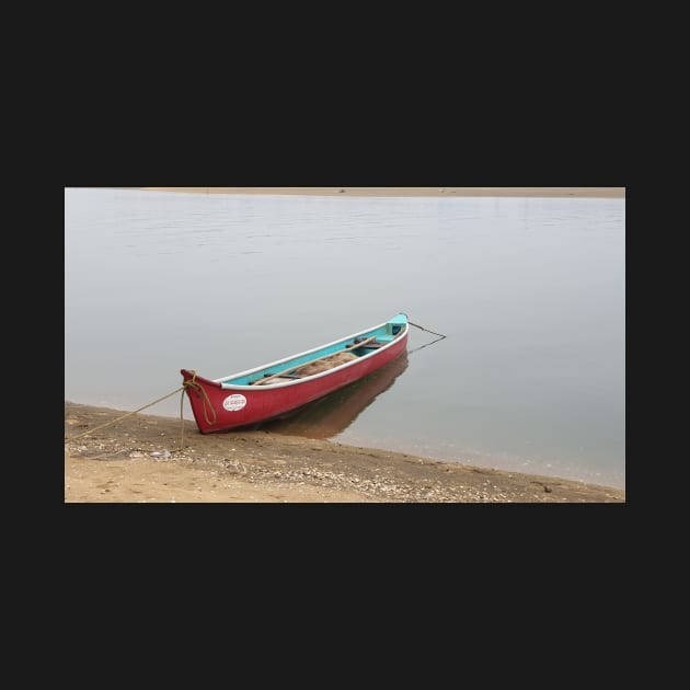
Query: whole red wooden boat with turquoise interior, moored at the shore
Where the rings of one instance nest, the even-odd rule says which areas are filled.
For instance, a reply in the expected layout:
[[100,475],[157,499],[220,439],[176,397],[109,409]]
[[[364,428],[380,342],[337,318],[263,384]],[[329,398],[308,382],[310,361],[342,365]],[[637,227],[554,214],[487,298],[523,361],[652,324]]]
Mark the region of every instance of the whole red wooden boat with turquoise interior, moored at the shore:
[[377,371],[407,346],[404,313],[326,345],[240,371],[206,379],[182,369],[202,434],[229,432],[275,419]]

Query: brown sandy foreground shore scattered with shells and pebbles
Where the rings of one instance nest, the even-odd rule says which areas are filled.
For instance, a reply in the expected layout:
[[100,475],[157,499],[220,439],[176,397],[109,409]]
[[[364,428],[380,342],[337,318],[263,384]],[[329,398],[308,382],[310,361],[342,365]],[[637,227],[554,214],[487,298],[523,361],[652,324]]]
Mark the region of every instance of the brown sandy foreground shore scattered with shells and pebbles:
[[[65,403],[65,503],[624,503],[623,490]],[[80,434],[85,434],[74,438]]]

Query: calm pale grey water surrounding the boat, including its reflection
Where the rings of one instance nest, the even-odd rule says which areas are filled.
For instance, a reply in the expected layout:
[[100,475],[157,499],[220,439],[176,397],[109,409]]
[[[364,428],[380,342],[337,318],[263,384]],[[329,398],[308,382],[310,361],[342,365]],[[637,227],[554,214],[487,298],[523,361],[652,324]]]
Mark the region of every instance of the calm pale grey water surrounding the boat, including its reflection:
[[447,338],[412,329],[406,357],[271,428],[624,487],[624,199],[67,188],[65,398],[136,410],[182,367],[404,311]]

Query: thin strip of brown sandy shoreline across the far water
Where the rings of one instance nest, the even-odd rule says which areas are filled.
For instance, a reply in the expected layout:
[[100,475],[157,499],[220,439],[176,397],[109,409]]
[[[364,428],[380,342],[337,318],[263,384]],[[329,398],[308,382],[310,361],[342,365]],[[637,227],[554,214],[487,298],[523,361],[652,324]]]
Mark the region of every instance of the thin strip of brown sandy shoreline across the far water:
[[533,196],[625,198],[625,187],[130,187],[191,194],[314,196]]

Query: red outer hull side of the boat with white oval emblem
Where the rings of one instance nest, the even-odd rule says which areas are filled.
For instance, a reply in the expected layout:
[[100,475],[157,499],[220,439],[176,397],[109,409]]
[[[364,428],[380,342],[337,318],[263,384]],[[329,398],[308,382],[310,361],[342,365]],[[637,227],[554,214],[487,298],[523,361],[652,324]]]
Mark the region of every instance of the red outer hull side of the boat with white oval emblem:
[[225,433],[274,419],[377,371],[407,346],[409,326],[366,356],[317,376],[276,386],[229,386],[182,369],[183,383],[202,434]]

